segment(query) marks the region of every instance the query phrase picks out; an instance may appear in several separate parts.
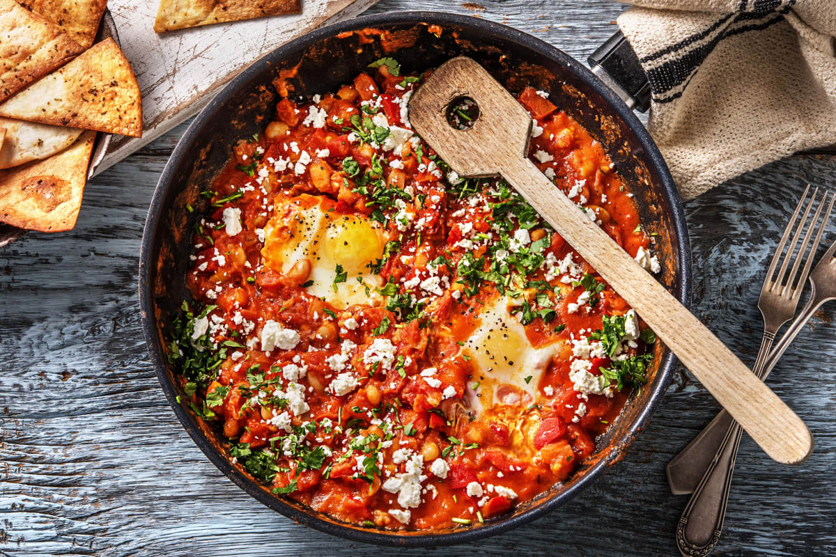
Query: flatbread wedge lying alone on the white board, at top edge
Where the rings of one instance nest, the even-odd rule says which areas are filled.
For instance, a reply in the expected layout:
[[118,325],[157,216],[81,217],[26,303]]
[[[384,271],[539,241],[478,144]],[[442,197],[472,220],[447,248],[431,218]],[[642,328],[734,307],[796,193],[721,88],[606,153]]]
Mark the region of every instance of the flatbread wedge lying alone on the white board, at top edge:
[[301,13],[301,0],[161,0],[157,33],[242,19]]

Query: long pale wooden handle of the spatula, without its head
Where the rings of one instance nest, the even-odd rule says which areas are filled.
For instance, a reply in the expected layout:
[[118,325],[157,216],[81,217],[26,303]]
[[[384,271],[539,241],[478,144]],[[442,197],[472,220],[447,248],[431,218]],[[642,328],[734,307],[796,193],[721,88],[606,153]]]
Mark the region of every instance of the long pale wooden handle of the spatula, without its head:
[[633,306],[770,457],[788,464],[808,457],[813,437],[793,410],[530,160],[507,160],[502,176]]

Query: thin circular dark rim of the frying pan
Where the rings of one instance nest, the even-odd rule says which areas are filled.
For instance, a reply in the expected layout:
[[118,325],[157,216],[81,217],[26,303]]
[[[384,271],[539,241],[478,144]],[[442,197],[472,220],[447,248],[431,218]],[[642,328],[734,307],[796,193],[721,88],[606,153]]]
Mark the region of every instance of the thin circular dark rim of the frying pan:
[[[227,478],[231,479],[233,483],[237,484],[247,494],[257,499],[270,509],[278,511],[289,519],[293,519],[299,523],[318,529],[327,534],[332,534],[345,539],[351,539],[358,542],[369,544],[389,545],[395,547],[431,547],[451,544],[461,544],[476,539],[487,538],[494,534],[500,534],[510,529],[517,528],[523,524],[528,524],[534,519],[542,517],[558,506],[567,503],[570,499],[577,496],[583,489],[587,488],[589,484],[594,482],[603,472],[604,468],[609,467],[612,463],[620,458],[622,451],[611,451],[608,455],[599,459],[599,462],[594,466],[588,468],[584,475],[579,478],[572,485],[568,486],[560,494],[554,494],[543,503],[533,506],[531,509],[523,511],[520,514],[512,514],[495,522],[488,522],[483,525],[475,525],[467,529],[457,529],[451,532],[442,533],[421,533],[410,534],[397,531],[385,531],[376,529],[362,529],[351,524],[339,523],[334,519],[324,519],[313,509],[303,511],[297,507],[288,504],[284,499],[278,498],[270,494],[268,490],[263,489],[257,482],[248,478],[241,473],[236,467],[232,466],[228,458],[212,445],[210,440],[201,431],[195,418],[188,413],[180,403],[176,401],[176,388],[171,383],[167,375],[166,357],[161,346],[160,339],[157,335],[157,319],[155,315],[155,305],[153,296],[152,279],[155,272],[155,259],[151,256],[156,256],[154,253],[154,246],[157,244],[157,239],[161,234],[161,230],[165,229],[163,219],[165,217],[164,201],[166,195],[169,194],[171,185],[174,183],[175,173],[180,164],[181,159],[186,155],[186,152],[191,149],[191,145],[197,139],[201,129],[206,125],[207,121],[214,118],[218,109],[222,107],[229,96],[233,94],[242,84],[247,82],[259,73],[265,64],[272,63],[277,60],[287,58],[289,53],[297,52],[300,48],[308,48],[315,43],[321,42],[324,38],[332,37],[338,33],[353,31],[362,28],[369,28],[375,26],[395,25],[395,24],[409,24],[409,23],[429,23],[439,25],[459,25],[461,27],[469,28],[477,32],[485,33],[490,36],[501,36],[503,40],[512,43],[517,43],[524,48],[533,50],[535,53],[542,55],[548,60],[563,65],[569,73],[573,73],[576,77],[583,80],[586,84],[594,89],[609,107],[613,109],[614,113],[624,121],[631,132],[635,134],[642,149],[645,149],[646,156],[650,160],[650,165],[653,170],[659,175],[659,185],[662,195],[670,205],[670,220],[671,232],[675,234],[676,246],[676,265],[679,270],[677,273],[678,284],[673,291],[674,296],[683,304],[690,306],[691,301],[691,247],[688,240],[688,232],[686,228],[685,212],[681,204],[681,199],[678,191],[675,188],[674,180],[670,175],[670,171],[665,165],[665,161],[656,147],[653,139],[650,138],[650,133],[645,129],[645,126],[640,123],[640,120],[635,116],[633,111],[629,109],[614,92],[609,89],[603,82],[599,80],[592,72],[589,71],[582,63],[570,57],[568,54],[544,41],[534,38],[528,33],[523,33],[514,28],[509,28],[501,23],[494,23],[487,19],[475,18],[472,16],[461,15],[456,13],[444,12],[396,12],[396,13],[380,13],[369,16],[362,16],[359,18],[350,19],[340,23],[334,23],[324,28],[319,28],[313,32],[307,33],[302,37],[293,39],[292,41],[283,44],[263,57],[258,58],[256,62],[252,63],[248,68],[239,73],[233,78],[229,84],[224,86],[215,97],[206,104],[201,112],[195,117],[191,125],[186,129],[178,141],[176,148],[172,152],[166,167],[163,170],[160,180],[155,188],[154,195],[150,201],[148,217],[145,221],[145,230],[142,237],[140,248],[140,272],[139,272],[139,291],[140,291],[140,310],[143,323],[143,331],[145,333],[145,342],[148,345],[151,362],[155,367],[155,373],[161,383],[161,388],[166,395],[171,408],[176,417],[179,419],[186,433],[201,449],[206,457],[224,473]],[[635,435],[645,428],[650,417],[658,408],[661,398],[664,397],[667,387],[673,377],[673,371],[677,364],[676,357],[670,350],[667,350],[662,357],[660,366],[657,371],[657,380],[652,387],[652,392],[648,398],[648,402],[644,408],[634,418],[630,427],[624,432],[624,437],[627,439],[627,445],[632,443]]]

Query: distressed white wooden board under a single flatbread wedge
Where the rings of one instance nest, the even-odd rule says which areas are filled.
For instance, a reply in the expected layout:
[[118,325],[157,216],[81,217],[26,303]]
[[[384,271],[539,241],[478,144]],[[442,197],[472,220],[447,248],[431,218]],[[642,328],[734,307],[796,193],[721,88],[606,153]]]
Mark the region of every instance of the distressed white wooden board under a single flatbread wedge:
[[377,0],[302,0],[302,13],[154,33],[159,0],[110,0],[122,50],[142,91],[141,138],[115,136],[94,175],[196,114],[257,58]]

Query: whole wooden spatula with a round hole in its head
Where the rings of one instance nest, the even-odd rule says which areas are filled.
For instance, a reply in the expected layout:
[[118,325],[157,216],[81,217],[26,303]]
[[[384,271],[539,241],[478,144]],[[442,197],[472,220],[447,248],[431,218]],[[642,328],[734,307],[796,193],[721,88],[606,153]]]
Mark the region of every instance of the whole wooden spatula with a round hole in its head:
[[[462,97],[479,108],[469,129],[448,123]],[[801,418],[528,160],[532,119],[471,58],[441,65],[412,95],[413,128],[463,177],[501,175],[633,306],[766,453],[800,463],[813,450]]]

